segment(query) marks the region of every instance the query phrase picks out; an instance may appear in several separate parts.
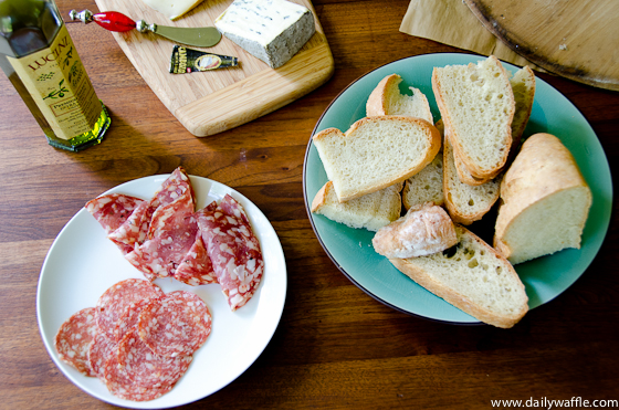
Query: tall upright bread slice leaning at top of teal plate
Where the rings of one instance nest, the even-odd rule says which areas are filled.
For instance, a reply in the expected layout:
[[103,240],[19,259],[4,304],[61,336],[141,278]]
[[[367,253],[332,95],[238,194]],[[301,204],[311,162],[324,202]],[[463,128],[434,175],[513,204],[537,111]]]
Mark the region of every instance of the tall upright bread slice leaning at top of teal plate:
[[478,64],[434,67],[432,90],[457,156],[475,178],[505,165],[512,146],[514,93],[491,55]]

